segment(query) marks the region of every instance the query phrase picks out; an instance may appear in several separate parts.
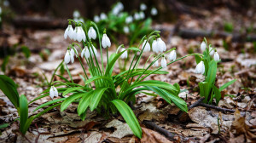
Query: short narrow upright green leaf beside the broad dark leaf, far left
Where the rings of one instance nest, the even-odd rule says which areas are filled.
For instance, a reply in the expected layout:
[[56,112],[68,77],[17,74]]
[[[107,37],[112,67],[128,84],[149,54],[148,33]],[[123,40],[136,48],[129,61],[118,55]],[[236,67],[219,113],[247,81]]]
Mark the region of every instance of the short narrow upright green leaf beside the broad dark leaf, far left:
[[25,125],[28,117],[28,106],[26,96],[22,94],[20,96],[20,132],[26,134]]

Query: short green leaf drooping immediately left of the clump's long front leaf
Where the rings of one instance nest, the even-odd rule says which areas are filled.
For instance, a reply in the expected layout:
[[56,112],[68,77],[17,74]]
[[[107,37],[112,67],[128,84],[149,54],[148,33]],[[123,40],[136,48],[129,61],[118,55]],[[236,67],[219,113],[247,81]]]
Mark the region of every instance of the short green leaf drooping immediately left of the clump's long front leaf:
[[90,99],[90,111],[94,111],[96,106],[98,106],[100,100],[102,99],[102,94],[107,90],[108,88],[99,88],[95,89],[93,92],[93,95]]

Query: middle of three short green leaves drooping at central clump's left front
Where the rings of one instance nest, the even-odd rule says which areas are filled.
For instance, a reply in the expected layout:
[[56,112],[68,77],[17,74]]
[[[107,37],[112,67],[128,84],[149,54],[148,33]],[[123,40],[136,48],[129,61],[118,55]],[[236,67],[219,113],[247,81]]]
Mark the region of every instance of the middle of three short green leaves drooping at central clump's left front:
[[89,91],[87,93],[84,93],[82,99],[79,101],[79,106],[78,106],[78,114],[81,116],[83,112],[86,111],[88,106],[90,105],[90,97],[93,95],[94,91]]

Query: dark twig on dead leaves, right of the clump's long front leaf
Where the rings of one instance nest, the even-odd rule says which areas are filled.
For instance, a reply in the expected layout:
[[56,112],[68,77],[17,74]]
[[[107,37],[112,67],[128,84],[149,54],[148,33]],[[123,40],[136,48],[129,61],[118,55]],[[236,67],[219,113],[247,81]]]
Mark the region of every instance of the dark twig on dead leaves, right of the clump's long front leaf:
[[168,138],[169,140],[176,140],[175,137],[180,137],[182,138],[183,140],[187,140],[186,138],[183,138],[183,136],[179,136],[179,135],[176,135],[176,134],[172,134],[171,132],[169,132],[168,130],[166,129],[163,129],[161,128],[160,126],[158,126],[157,124],[155,124],[154,122],[151,122],[151,121],[146,121],[144,120],[143,123],[153,129],[155,129],[156,131],[158,131],[160,134],[164,134],[166,136],[166,138]]

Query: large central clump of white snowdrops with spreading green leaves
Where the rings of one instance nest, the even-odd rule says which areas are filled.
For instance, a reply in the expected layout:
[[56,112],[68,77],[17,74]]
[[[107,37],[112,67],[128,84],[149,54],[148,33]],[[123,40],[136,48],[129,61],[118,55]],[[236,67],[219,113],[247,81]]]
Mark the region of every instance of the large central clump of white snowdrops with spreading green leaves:
[[[73,26],[75,26],[74,29]],[[105,29],[102,34],[100,32],[102,31],[99,31],[94,22],[85,25],[81,21],[69,20],[69,25],[64,33],[65,38],[73,40],[73,43],[67,47],[67,53],[64,56],[69,79],[57,75],[64,82],[53,82],[49,89],[44,90],[40,96],[32,100],[30,103],[46,96],[52,98],[38,106],[35,111],[49,106],[43,111],[47,112],[55,106],[61,106],[61,112],[63,112],[70,104],[78,103],[77,112],[82,120],[85,119],[86,112],[89,110],[96,111],[104,117],[120,113],[138,138],[142,137],[142,129],[131,107],[127,105],[128,102],[136,103],[137,94],[160,95],[169,104],[174,103],[183,112],[188,112],[186,102],[178,97],[180,88],[177,83],[172,85],[144,79],[153,74],[168,73],[163,69],[177,60],[182,60],[190,55],[202,57],[202,54],[188,54],[177,59],[175,48],[167,49],[166,43],[160,37],[160,31],[153,31],[148,37],[144,36],[137,47],[125,48],[122,44],[119,45],[115,53],[109,55],[108,48],[111,47],[111,41],[107,30]],[[148,43],[150,40],[153,40],[152,46]],[[94,43],[98,43],[98,49]],[[127,59],[128,51],[132,57],[128,70],[113,75],[113,68],[117,60]],[[140,61],[143,54],[147,55],[149,51],[153,51],[154,54],[148,56],[147,62],[143,63],[143,68],[138,68],[138,65],[142,64]],[[103,56],[104,52],[107,53],[107,57]],[[73,77],[67,67],[68,64],[73,64],[75,59],[79,60],[84,71],[84,76],[81,76],[84,80],[83,85],[73,82]],[[85,69],[88,69],[88,72]]]

